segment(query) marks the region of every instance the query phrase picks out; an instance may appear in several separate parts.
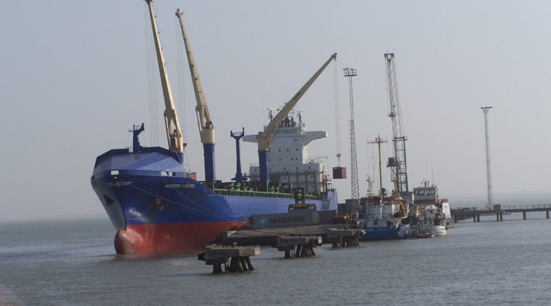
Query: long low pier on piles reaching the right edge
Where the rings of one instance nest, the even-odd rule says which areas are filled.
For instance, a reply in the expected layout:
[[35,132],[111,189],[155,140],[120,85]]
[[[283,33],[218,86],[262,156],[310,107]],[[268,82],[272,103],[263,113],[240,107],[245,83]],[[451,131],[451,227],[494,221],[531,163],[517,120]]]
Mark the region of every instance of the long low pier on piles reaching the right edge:
[[503,221],[503,215],[512,213],[522,213],[522,219],[526,220],[526,212],[545,212],[545,219],[549,219],[551,204],[541,205],[515,205],[501,206],[494,205],[492,210],[477,210],[476,208],[457,208],[452,209],[452,215],[455,222],[472,218],[473,222],[480,222],[481,215],[495,215],[496,221]]

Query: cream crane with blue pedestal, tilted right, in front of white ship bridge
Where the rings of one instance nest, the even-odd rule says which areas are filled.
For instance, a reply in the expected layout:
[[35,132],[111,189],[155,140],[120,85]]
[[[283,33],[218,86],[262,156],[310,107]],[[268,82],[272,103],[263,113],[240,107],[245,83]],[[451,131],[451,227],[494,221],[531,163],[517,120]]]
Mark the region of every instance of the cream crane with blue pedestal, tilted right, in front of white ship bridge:
[[331,63],[331,61],[337,58],[337,54],[331,55],[329,60],[327,60],[320,69],[302,86],[301,89],[287,102],[282,109],[273,117],[270,123],[264,128],[264,131],[258,132],[258,164],[260,166],[260,188],[262,190],[267,190],[268,187],[268,166],[267,166],[267,157],[268,151],[270,150],[270,145],[273,140],[273,131],[280,126],[282,120],[289,114],[289,111],[297,105],[298,100],[304,96],[306,91],[314,83],[314,81],[320,76],[324,69]]

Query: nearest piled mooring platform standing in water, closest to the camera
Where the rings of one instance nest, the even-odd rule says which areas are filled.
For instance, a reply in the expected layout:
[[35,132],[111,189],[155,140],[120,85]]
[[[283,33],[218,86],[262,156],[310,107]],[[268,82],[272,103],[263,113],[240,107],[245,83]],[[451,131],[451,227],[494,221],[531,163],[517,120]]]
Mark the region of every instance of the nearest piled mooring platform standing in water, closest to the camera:
[[227,272],[243,273],[253,271],[250,256],[260,255],[259,246],[207,245],[205,252],[198,254],[198,260],[212,265],[214,274],[222,273],[222,264]]

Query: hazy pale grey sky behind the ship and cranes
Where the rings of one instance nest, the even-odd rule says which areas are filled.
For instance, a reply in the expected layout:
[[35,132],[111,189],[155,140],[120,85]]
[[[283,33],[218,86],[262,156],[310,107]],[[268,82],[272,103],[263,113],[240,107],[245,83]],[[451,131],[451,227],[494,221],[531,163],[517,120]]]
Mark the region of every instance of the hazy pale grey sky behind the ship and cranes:
[[[202,179],[195,100],[176,8],[196,57],[216,127],[217,177],[235,174],[229,131],[257,133],[266,109],[287,102],[333,52],[329,66],[298,104],[309,131],[329,138],[309,145],[336,165],[337,139],[349,164],[349,96],[342,68],[353,67],[360,194],[372,175],[380,134],[391,140],[383,54],[395,52],[408,137],[410,187],[435,180],[441,195],[486,193],[482,106],[489,113],[496,195],[547,192],[551,145],[551,2],[549,1],[176,1],[156,14],[178,105],[185,113],[187,157]],[[97,155],[132,145],[127,132],[152,127],[151,46],[146,5],[120,1],[8,1],[0,10],[0,221],[106,216],[90,186]],[[149,41],[146,41],[146,38]],[[334,74],[340,137],[335,137]],[[183,79],[182,79],[183,78]],[[185,83],[185,87],[179,87]],[[159,88],[159,87],[158,87]],[[182,94],[184,93],[184,94]],[[159,93],[160,94],[160,93]],[[163,122],[158,98],[158,121]],[[158,131],[157,131],[158,130]],[[384,158],[391,153],[383,146]],[[242,144],[242,164],[258,164],[256,144]],[[390,190],[388,171],[384,173]],[[334,181],[340,200],[350,181]]]

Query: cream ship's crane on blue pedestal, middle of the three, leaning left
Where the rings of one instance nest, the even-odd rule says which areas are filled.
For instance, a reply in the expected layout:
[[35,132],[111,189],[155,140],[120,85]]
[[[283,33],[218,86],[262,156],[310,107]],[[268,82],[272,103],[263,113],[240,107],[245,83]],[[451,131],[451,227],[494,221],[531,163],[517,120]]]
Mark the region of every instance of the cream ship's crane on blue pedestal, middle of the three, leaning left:
[[178,20],[180,21],[180,29],[182,30],[182,36],[184,39],[187,62],[189,63],[189,72],[191,73],[191,80],[194,84],[195,100],[197,102],[195,111],[197,114],[197,124],[199,126],[199,135],[201,138],[203,153],[205,154],[205,181],[214,182],[216,177],[216,170],[214,168],[214,124],[212,124],[211,116],[209,114],[209,107],[207,107],[205,93],[202,91],[199,72],[197,71],[194,54],[191,52],[191,45],[189,45],[187,32],[185,31],[184,22],[182,21],[182,15],[183,12],[180,12],[180,9],[178,8],[176,10],[176,17],[178,17]]

